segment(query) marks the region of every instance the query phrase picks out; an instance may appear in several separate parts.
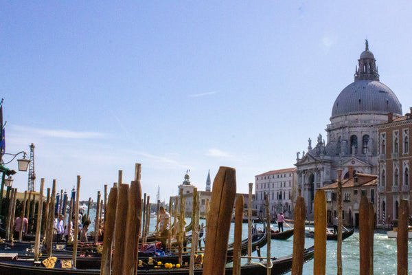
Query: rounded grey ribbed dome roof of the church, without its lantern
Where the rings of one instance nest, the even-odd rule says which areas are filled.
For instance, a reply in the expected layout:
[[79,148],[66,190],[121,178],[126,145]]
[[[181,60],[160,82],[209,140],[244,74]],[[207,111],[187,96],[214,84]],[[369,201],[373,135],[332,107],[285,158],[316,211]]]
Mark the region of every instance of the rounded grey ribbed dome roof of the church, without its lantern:
[[336,98],[332,118],[361,113],[402,115],[402,106],[387,85],[377,80],[355,80]]

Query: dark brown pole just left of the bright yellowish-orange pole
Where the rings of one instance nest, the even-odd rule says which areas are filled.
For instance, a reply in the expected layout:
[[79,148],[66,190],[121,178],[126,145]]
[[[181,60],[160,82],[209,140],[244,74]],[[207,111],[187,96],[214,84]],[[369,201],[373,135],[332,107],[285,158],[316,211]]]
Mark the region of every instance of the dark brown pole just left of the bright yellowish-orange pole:
[[292,275],[301,275],[304,268],[305,217],[305,199],[304,197],[299,196],[297,197],[295,205],[295,226],[293,228]]

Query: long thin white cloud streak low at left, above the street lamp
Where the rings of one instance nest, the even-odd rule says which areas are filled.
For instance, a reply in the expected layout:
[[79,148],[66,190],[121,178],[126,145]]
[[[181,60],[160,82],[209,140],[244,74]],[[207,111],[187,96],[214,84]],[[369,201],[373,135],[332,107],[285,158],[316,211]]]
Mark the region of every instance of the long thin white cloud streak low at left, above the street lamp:
[[43,137],[60,137],[69,139],[95,139],[104,137],[103,133],[88,132],[88,131],[69,131],[62,129],[38,129],[27,126],[13,125],[15,131],[25,132],[26,134],[38,135]]

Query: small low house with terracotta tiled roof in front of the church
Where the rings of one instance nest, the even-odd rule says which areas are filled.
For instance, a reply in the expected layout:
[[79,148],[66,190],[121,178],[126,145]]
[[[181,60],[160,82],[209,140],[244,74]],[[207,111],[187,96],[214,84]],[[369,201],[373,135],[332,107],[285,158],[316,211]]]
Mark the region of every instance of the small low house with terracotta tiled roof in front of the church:
[[[367,199],[374,204],[375,212],[377,210],[377,197],[376,186],[378,185],[377,175],[367,175],[361,173],[355,173],[353,175],[353,167],[350,166],[349,178],[342,180],[342,224],[343,226],[352,228],[353,226],[359,226],[359,205],[361,203],[361,196],[366,196]],[[333,184],[323,186],[319,190],[325,190],[327,210],[328,210],[328,223],[332,225],[332,219],[337,217],[337,190],[338,183],[335,181]]]

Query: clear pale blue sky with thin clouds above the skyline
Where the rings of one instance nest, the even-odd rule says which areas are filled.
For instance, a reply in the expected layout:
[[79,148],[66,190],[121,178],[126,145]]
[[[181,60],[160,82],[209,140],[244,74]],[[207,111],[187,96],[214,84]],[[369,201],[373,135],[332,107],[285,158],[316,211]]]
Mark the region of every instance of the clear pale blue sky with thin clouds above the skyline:
[[188,169],[205,190],[209,170],[213,181],[236,168],[248,192],[325,137],[365,39],[409,112],[411,12],[410,1],[2,1],[5,151],[34,143],[36,190],[44,178],[69,191],[80,175],[83,200],[119,170],[130,184],[136,163],[152,201],[158,186],[162,201],[177,195]]

